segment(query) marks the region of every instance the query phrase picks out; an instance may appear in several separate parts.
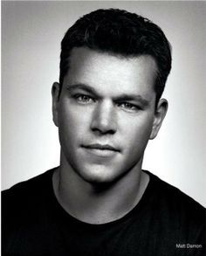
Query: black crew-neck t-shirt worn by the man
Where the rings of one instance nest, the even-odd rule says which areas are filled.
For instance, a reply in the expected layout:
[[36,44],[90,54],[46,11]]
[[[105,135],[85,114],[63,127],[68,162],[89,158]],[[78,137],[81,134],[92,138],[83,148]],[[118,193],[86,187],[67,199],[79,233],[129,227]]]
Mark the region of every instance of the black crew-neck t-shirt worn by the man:
[[157,176],[127,215],[92,225],[58,204],[54,170],[3,191],[2,255],[206,255],[205,209]]

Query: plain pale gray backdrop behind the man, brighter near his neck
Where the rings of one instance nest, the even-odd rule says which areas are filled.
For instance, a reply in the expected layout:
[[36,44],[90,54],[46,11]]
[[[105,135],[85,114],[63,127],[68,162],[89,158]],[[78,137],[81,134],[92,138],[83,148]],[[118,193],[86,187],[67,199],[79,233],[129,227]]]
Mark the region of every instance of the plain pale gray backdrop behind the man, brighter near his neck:
[[[3,2],[2,189],[58,165],[51,86],[60,40],[83,14],[116,7],[159,24],[173,45],[168,115],[143,167],[206,206],[205,6],[203,2]],[[37,188],[38,189],[38,188]]]

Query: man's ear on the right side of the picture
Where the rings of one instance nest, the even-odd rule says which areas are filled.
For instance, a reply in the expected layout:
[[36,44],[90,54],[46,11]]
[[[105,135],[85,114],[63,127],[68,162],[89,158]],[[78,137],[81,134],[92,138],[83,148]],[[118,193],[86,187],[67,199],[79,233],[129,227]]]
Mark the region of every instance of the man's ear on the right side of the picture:
[[164,120],[165,115],[167,114],[167,111],[168,111],[168,100],[165,100],[165,99],[159,100],[154,113],[153,129],[149,137],[150,140],[153,140],[155,136],[158,134],[159,129],[161,128],[161,123]]

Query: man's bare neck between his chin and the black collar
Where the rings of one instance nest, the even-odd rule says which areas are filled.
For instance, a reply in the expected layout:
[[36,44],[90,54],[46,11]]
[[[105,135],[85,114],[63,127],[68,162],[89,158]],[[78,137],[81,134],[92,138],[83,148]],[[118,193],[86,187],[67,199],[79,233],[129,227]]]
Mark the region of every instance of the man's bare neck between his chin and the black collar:
[[148,185],[149,177],[139,165],[117,182],[98,186],[87,183],[62,161],[53,175],[58,203],[74,218],[90,224],[122,218],[139,203]]

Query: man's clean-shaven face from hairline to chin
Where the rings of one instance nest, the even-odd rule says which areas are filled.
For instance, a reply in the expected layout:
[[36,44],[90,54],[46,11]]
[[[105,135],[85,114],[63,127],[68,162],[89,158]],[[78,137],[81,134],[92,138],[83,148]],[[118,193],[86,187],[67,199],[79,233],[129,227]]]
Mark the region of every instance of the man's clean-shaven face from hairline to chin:
[[[74,48],[53,119],[63,158],[89,183],[110,183],[135,167],[158,128],[156,65],[149,56],[120,58]],[[64,163],[62,163],[64,164]]]

